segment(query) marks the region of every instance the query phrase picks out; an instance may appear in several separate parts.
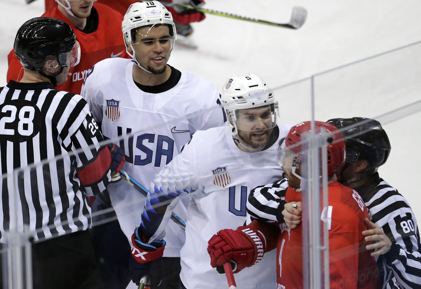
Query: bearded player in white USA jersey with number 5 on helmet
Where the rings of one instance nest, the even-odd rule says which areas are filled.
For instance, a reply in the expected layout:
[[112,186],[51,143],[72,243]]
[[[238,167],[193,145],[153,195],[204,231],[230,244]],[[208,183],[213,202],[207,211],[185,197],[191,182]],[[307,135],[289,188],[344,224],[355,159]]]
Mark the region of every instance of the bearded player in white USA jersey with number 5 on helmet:
[[[243,225],[250,190],[282,175],[277,144],[291,125],[276,123],[272,90],[256,74],[232,77],[221,100],[229,127],[198,131],[155,176],[141,225],[132,237],[132,254],[138,262],[159,258],[165,246],[161,239],[169,240],[165,231],[173,208],[191,195],[181,249],[181,288],[227,288],[225,276],[210,266],[208,240],[221,228]],[[263,264],[239,272],[238,288],[274,288],[273,258],[269,255]]]

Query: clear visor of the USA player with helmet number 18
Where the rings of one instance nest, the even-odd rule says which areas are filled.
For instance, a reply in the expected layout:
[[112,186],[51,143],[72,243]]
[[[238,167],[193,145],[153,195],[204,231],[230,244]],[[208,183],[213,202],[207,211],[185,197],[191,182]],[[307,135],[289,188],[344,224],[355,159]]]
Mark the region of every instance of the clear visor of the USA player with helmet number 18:
[[170,28],[169,24],[161,23],[137,27],[132,29],[131,45],[142,45],[144,47],[160,45],[163,48],[172,50],[176,40],[175,29],[174,25]]

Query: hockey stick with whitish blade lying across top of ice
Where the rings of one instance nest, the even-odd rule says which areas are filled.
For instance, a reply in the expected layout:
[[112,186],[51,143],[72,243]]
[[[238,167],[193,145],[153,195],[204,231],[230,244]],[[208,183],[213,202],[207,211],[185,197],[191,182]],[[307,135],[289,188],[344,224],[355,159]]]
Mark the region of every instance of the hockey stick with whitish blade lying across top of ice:
[[233,18],[233,19],[239,19],[239,20],[244,20],[244,21],[250,21],[250,22],[272,25],[272,26],[277,26],[277,27],[290,28],[290,29],[300,28],[304,24],[307,18],[307,10],[301,6],[293,7],[291,19],[288,23],[276,23],[276,22],[271,22],[271,21],[266,21],[266,20],[254,19],[254,18],[250,18],[246,16],[234,15],[234,14],[226,13],[226,12],[198,8],[192,5],[187,5],[187,4],[182,4],[182,3],[173,3],[172,5],[178,5],[184,8],[193,9],[202,13],[213,14],[216,16],[223,16],[223,17],[228,17],[228,18]]

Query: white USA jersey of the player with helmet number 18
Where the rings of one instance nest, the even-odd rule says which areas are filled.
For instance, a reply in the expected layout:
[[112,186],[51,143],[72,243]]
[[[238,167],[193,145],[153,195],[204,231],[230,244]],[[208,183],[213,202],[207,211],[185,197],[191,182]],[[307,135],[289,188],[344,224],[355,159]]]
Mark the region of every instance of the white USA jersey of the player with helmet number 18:
[[[126,155],[123,166],[129,175],[148,188],[151,180],[180,152],[197,130],[224,124],[219,93],[213,85],[193,74],[181,72],[178,83],[162,93],[146,93],[133,81],[133,62],[109,58],[97,63],[82,87],[102,133]],[[123,139],[117,140],[120,136]],[[120,181],[107,187],[120,227],[131,242],[141,220],[145,197]],[[180,203],[174,212],[185,217]],[[179,257],[184,231],[170,223],[165,257]]]

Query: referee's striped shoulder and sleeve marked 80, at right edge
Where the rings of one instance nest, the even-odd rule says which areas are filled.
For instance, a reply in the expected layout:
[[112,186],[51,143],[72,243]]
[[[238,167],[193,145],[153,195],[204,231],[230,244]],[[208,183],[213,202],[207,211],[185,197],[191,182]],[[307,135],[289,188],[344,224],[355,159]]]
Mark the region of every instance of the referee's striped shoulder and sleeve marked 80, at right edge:
[[371,221],[392,241],[392,249],[378,257],[383,289],[421,288],[421,245],[417,220],[408,201],[376,173],[355,188]]

